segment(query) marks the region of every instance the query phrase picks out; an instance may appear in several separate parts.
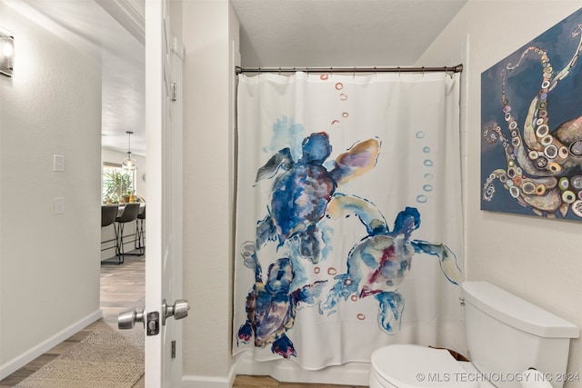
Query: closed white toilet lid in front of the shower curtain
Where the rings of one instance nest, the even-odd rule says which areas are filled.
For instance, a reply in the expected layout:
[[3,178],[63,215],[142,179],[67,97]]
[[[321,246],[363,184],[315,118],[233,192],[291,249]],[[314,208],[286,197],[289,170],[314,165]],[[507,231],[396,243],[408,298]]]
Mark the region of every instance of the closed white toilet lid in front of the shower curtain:
[[387,383],[399,388],[479,386],[445,349],[412,344],[388,345],[372,353],[372,368]]

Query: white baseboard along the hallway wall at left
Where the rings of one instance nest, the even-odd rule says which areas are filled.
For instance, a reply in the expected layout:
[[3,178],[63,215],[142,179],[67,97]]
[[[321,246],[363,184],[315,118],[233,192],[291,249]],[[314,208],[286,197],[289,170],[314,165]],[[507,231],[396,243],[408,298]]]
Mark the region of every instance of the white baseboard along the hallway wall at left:
[[90,313],[89,315],[85,316],[85,318],[83,318],[82,320],[66,327],[65,330],[63,330],[62,332],[56,333],[52,337],[48,338],[46,341],[38,343],[35,347],[27,350],[25,353],[22,353],[19,356],[10,360],[9,362],[0,365],[0,380],[4,380],[10,374],[15,373],[17,370],[25,366],[25,364],[35,360],[35,358],[38,357],[39,355],[46,353],[46,351],[48,351],[49,349],[52,349],[59,343],[62,343],[68,337],[84,329],[89,324],[94,323],[102,316],[103,313],[101,312],[101,310],[97,310],[94,313]]

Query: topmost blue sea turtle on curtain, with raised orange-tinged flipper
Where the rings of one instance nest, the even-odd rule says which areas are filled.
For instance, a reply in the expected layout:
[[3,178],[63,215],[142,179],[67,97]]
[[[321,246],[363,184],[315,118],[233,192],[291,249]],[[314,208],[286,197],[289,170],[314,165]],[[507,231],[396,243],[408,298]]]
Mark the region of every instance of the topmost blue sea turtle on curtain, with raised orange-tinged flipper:
[[293,160],[289,148],[279,150],[256,174],[256,182],[275,178],[267,215],[256,226],[256,246],[296,242],[297,254],[317,263],[322,251],[317,223],[326,214],[327,203],[339,184],[374,168],[379,148],[374,138],[356,143],[339,154],[330,169],[324,166],[332,152],[325,132],[303,140],[299,160]]

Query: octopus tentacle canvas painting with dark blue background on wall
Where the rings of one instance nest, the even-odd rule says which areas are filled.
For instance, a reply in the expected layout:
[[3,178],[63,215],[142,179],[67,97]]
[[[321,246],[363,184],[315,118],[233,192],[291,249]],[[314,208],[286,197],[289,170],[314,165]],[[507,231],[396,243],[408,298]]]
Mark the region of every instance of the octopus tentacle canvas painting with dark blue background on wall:
[[582,221],[582,9],[481,75],[481,209]]

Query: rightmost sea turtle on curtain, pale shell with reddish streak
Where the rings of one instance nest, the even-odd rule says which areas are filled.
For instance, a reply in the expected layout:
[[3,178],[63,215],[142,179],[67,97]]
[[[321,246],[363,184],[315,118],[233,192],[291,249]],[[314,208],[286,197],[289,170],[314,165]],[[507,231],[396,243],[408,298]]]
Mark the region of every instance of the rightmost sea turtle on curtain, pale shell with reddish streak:
[[366,237],[356,243],[347,255],[347,272],[338,274],[337,283],[320,303],[321,313],[334,313],[337,303],[356,294],[357,298],[373,295],[378,302],[378,324],[389,334],[399,327],[404,298],[398,293],[410,270],[415,254],[437,256],[447,280],[458,285],[462,274],[457,257],[445,244],[412,240],[420,226],[415,207],[406,207],[397,217],[392,232],[376,206],[354,195],[336,194],[327,208],[327,217],[340,218],[356,214],[366,226]]

